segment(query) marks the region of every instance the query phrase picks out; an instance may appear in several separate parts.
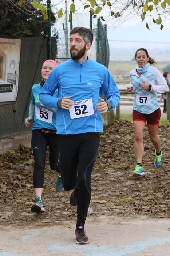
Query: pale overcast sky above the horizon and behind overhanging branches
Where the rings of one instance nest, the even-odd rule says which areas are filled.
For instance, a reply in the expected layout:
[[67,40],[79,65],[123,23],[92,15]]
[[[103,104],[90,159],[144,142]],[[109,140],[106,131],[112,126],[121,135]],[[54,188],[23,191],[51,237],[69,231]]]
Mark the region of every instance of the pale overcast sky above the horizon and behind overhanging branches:
[[[58,4],[58,0],[51,0],[51,3]],[[72,1],[68,0],[68,8]],[[80,8],[80,1],[75,0],[76,13],[74,18],[74,26],[89,26],[89,11],[84,8]],[[57,5],[58,9],[65,9],[64,1],[61,1]],[[63,10],[64,12],[64,10]],[[69,14],[69,11],[68,11]],[[128,13],[126,13],[128,14]],[[125,14],[125,15],[126,15]],[[100,12],[100,16],[107,17],[107,12]],[[155,17],[154,17],[155,18]],[[116,26],[117,19],[107,20],[107,36],[109,39],[110,48],[129,48],[129,49],[169,49],[170,48],[170,20],[163,20],[163,29],[160,30],[160,25],[153,24],[151,21],[152,17],[146,16],[146,22],[149,23],[150,30],[146,29],[146,22],[142,22],[141,17],[137,15],[128,15],[128,18],[124,20],[121,25]],[[92,19],[95,24],[97,19]],[[104,22],[102,22],[104,24]],[[84,25],[86,24],[86,25]],[[115,41],[117,40],[117,41]],[[170,58],[169,58],[170,59]]]

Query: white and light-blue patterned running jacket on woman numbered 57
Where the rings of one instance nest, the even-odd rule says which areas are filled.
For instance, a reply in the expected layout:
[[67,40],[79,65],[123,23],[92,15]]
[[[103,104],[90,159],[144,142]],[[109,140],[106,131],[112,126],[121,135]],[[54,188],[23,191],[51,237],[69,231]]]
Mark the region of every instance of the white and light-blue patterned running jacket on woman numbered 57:
[[[151,91],[142,89],[142,81],[151,84]],[[138,76],[136,69],[130,71],[130,86],[133,86],[135,100],[133,109],[143,114],[150,114],[157,110],[160,106],[157,100],[157,93],[165,93],[168,86],[161,72],[150,66],[141,76]]]

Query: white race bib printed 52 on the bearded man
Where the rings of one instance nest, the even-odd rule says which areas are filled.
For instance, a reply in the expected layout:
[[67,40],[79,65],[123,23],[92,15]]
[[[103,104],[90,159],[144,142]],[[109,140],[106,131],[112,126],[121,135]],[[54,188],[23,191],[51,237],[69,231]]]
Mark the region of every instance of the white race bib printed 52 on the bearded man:
[[73,102],[69,112],[71,119],[94,115],[92,99],[83,99],[82,101]]

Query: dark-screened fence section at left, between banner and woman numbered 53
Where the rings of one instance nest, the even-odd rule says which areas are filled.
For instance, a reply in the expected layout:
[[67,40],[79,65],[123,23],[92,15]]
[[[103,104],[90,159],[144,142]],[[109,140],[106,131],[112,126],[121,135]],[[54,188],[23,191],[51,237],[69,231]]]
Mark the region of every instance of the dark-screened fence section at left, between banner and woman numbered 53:
[[[55,40],[52,40],[55,41]],[[54,52],[56,54],[56,44]],[[44,37],[21,38],[18,93],[15,102],[0,105],[0,138],[29,131],[24,125],[28,115],[31,87],[41,80],[41,65],[48,59]]]

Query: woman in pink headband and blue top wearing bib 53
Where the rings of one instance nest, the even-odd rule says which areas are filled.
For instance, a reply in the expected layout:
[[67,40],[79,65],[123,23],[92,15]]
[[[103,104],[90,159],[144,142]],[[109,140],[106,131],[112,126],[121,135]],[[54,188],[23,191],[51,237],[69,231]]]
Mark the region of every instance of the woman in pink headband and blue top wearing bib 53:
[[[25,119],[25,125],[32,125],[32,153],[34,157],[33,185],[35,188],[35,202],[31,211],[41,213],[44,207],[41,200],[44,183],[44,168],[47,146],[49,146],[49,163],[53,170],[58,171],[56,190],[62,191],[62,179],[58,167],[58,135],[56,134],[56,109],[43,106],[39,101],[39,93],[51,71],[56,67],[54,60],[46,60],[41,69],[42,80],[32,87],[32,101],[29,106],[29,116]],[[54,97],[57,95],[57,90]]]

